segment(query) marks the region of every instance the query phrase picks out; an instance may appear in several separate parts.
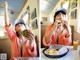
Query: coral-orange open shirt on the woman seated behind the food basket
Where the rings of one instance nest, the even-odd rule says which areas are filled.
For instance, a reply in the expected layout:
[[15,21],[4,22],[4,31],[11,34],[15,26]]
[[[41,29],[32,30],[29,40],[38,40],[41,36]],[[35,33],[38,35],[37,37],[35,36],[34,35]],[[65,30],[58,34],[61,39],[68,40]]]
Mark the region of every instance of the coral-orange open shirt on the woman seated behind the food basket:
[[[53,35],[51,36],[51,40],[46,43],[46,37],[49,35],[50,31],[52,30],[52,26],[48,26],[45,32],[45,35],[43,37],[43,45],[44,46],[50,46],[51,44],[57,44],[57,40],[56,40],[56,33],[54,32]],[[67,34],[67,30],[64,29],[62,34],[58,37],[58,44],[61,45],[70,45],[71,44],[71,35],[69,37],[66,37]]]

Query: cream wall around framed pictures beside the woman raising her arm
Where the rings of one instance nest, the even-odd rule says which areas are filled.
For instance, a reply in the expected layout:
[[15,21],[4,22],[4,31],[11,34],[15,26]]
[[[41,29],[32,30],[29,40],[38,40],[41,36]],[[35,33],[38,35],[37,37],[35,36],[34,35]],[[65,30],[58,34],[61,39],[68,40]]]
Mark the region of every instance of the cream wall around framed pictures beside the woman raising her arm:
[[[36,11],[37,11],[37,17],[35,18],[35,19],[37,19],[37,23],[38,23],[38,29],[32,29],[32,31],[38,36],[38,38],[39,38],[39,1],[38,0],[28,0],[29,2],[29,6],[30,6],[30,12],[32,12],[33,11],[33,9],[34,8],[36,8]],[[27,3],[27,4],[28,4]],[[35,19],[33,19],[33,20],[35,20]],[[30,27],[32,28],[32,26],[31,26],[31,24],[32,24],[32,20],[30,20]]]

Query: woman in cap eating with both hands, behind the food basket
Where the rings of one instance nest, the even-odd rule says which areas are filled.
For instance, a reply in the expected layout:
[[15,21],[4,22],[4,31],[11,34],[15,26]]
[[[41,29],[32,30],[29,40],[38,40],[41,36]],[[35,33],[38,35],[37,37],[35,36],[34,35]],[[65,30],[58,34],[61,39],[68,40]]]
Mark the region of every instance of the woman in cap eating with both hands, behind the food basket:
[[64,8],[55,12],[54,23],[47,27],[43,37],[44,46],[53,44],[71,45],[71,29]]

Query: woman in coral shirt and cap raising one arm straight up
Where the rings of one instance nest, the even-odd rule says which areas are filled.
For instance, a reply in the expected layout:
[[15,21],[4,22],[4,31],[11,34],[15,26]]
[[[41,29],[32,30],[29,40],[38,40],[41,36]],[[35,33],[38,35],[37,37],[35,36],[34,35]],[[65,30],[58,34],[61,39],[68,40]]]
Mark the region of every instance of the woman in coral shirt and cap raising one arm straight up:
[[[4,18],[5,18],[5,29],[7,31],[7,34],[11,40],[11,59],[13,60],[14,57],[36,57],[37,56],[37,50],[36,50],[36,43],[34,36],[31,35],[31,31],[26,29],[26,25],[22,19],[18,19],[15,22],[15,31],[14,32],[10,26],[8,19],[8,5],[7,2],[4,3]],[[28,38],[23,36],[22,31],[26,30]],[[33,37],[33,39],[29,39]]]

